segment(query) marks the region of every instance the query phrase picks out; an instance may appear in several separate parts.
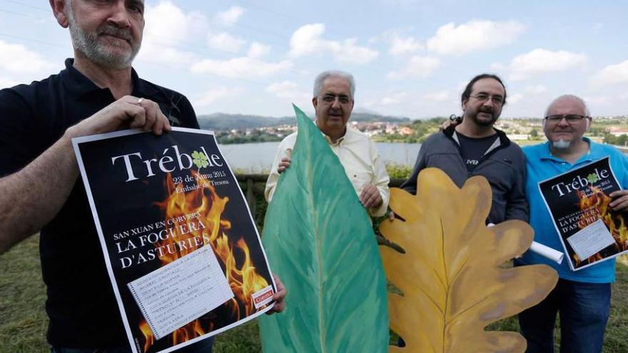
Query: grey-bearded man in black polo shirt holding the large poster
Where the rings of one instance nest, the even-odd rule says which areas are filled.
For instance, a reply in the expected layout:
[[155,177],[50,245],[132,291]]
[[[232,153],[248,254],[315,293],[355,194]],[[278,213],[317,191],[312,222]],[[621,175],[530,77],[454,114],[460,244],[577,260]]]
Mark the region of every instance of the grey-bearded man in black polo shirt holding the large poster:
[[[161,135],[198,122],[186,97],[131,68],[143,0],[50,4],[70,29],[74,59],[59,74],[0,91],[0,253],[41,230],[53,352],[130,352],[71,138],[121,128]],[[278,289],[275,311],[284,306]],[[211,340],[180,352],[211,352]]]

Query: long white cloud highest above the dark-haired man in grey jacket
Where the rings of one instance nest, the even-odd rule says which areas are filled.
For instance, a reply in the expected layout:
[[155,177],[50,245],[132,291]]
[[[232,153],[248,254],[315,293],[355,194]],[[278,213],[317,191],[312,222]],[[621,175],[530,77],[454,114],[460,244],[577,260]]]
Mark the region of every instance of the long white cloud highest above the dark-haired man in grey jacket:
[[427,49],[441,55],[462,55],[511,44],[524,31],[525,26],[517,21],[472,20],[457,27],[450,22],[440,26],[436,35],[427,40]]

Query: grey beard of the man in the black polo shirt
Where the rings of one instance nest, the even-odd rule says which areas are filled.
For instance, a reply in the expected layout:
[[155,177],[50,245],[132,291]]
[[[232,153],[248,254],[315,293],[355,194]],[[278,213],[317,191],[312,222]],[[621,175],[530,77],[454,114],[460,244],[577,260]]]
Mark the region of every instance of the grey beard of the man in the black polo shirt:
[[[68,21],[70,36],[72,38],[74,48],[83,53],[83,55],[89,60],[94,63],[98,63],[103,67],[116,69],[128,68],[131,66],[133,58],[135,58],[140,50],[141,44],[136,46],[133,45],[133,37],[131,36],[131,30],[129,29],[120,29],[116,26],[111,26],[110,24],[104,24],[96,29],[95,33],[88,33],[78,25],[71,9],[68,11]],[[110,34],[126,39],[131,46],[131,49],[123,54],[107,51],[106,46],[98,43],[98,35],[100,34]]]

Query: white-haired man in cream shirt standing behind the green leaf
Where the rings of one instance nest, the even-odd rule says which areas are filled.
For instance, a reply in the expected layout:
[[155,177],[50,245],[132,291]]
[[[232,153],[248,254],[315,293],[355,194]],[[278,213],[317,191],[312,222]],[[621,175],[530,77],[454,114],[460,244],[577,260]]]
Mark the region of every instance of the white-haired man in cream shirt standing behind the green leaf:
[[[360,202],[370,215],[386,213],[390,190],[388,173],[373,141],[358,130],[347,126],[353,111],[355,81],[350,73],[325,71],[314,81],[312,103],[316,111],[316,126],[333,152],[338,155],[347,177],[358,193]],[[279,174],[290,166],[297,134],[292,133],[279,144],[273,167],[266,181],[265,198],[273,198]]]

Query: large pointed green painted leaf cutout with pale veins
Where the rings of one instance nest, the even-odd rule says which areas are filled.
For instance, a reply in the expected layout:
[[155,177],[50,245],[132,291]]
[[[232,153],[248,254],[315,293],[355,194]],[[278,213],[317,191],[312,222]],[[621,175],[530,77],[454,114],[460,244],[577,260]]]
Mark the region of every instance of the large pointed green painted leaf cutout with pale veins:
[[264,352],[386,352],[386,280],[368,215],[320,130],[295,107],[290,168],[262,242],[289,295],[260,317]]

